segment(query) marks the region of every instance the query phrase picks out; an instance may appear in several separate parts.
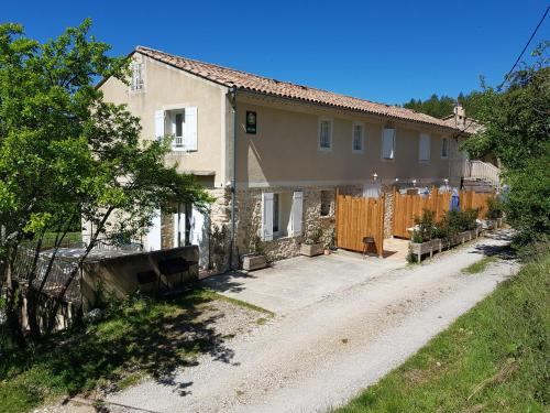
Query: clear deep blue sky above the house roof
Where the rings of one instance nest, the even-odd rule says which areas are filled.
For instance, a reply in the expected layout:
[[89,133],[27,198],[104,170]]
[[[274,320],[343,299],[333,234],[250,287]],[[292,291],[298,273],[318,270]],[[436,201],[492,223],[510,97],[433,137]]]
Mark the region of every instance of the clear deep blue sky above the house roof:
[[[146,45],[387,104],[457,96],[508,72],[547,2],[9,1],[1,22],[46,40],[84,18],[128,54]],[[550,17],[534,45],[550,39]],[[530,47],[532,50],[532,47]],[[529,51],[530,51],[529,50]]]

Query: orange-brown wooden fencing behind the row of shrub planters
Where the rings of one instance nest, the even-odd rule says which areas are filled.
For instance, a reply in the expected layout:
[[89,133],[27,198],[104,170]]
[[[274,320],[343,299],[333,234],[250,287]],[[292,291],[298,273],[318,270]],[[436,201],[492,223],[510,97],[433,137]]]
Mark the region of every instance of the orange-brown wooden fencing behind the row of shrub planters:
[[[461,191],[460,208],[479,208],[479,217],[484,217],[487,211],[487,199],[494,197],[494,194],[477,194],[473,191]],[[424,209],[432,210],[436,214],[436,221],[443,218],[449,210],[451,193],[440,193],[436,187],[431,188],[428,196],[404,195],[394,189],[394,216],[393,233],[395,237],[410,238],[407,228],[415,225],[415,217],[420,217]]]

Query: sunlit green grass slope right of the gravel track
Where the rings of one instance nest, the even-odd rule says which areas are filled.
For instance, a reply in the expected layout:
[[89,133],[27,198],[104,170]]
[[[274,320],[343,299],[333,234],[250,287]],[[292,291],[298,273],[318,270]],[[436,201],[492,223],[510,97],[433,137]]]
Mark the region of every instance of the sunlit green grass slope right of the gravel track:
[[550,254],[339,413],[550,411]]

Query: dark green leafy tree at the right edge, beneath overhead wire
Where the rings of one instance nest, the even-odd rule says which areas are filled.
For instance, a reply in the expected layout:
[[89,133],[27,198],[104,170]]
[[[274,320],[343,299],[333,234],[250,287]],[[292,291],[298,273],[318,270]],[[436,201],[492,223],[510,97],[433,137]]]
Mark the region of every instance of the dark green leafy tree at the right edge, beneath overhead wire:
[[493,154],[510,186],[506,211],[525,244],[550,233],[550,67],[543,42],[537,61],[507,78],[503,91],[486,88],[477,96],[484,130],[464,144],[473,156]]

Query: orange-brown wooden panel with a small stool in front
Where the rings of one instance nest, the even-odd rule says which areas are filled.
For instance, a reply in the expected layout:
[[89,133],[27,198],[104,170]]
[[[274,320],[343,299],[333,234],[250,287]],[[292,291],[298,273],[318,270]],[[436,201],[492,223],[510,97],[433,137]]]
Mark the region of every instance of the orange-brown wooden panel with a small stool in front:
[[376,253],[384,251],[384,197],[337,195],[337,247],[363,251],[363,238],[373,237]]

